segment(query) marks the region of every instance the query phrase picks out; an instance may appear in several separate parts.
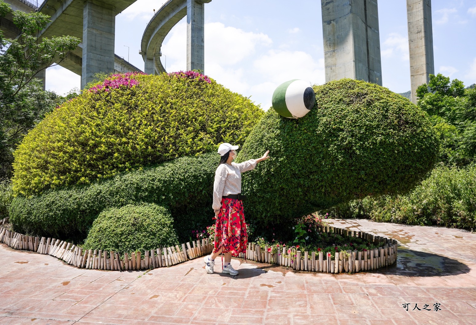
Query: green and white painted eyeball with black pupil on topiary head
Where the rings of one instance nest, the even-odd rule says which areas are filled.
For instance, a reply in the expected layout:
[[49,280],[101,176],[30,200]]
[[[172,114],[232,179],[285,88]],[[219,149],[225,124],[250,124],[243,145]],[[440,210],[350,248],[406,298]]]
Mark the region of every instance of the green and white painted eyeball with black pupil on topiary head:
[[316,94],[309,83],[299,79],[286,81],[273,93],[273,108],[285,118],[302,118],[316,103]]

